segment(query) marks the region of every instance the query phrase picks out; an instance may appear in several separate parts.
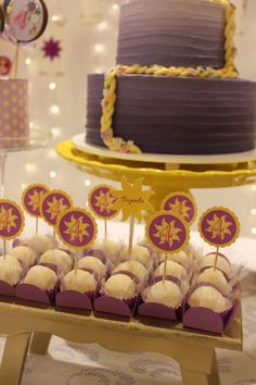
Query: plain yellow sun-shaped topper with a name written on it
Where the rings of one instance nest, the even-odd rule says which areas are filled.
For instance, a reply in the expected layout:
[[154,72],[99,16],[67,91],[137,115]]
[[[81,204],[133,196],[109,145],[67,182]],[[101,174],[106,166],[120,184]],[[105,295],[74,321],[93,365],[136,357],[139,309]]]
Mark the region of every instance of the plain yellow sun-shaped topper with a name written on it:
[[117,198],[114,203],[114,210],[121,210],[123,221],[133,216],[140,222],[142,211],[154,211],[154,207],[149,202],[149,199],[155,194],[152,190],[142,190],[143,178],[138,178],[133,184],[130,184],[124,176],[121,178],[121,190],[114,190],[113,196]]

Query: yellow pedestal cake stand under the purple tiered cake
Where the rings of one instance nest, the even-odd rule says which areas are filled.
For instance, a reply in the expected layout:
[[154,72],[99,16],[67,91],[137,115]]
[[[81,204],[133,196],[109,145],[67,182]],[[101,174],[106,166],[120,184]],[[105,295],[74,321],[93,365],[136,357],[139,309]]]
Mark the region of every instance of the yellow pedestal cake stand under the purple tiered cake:
[[[249,161],[218,164],[157,163],[116,159],[92,154],[66,140],[56,146],[59,156],[90,175],[119,182],[126,175],[130,182],[144,178],[155,195],[155,208],[171,191],[190,188],[234,187],[256,182],[256,154]],[[154,198],[153,198],[154,199]]]

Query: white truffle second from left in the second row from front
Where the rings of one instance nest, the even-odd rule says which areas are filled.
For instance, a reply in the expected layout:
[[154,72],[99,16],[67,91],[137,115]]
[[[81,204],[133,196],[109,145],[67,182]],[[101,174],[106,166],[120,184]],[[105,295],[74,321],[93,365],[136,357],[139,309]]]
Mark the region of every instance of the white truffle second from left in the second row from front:
[[43,252],[39,263],[51,263],[57,266],[59,273],[68,273],[72,269],[72,258],[63,250],[53,249]]

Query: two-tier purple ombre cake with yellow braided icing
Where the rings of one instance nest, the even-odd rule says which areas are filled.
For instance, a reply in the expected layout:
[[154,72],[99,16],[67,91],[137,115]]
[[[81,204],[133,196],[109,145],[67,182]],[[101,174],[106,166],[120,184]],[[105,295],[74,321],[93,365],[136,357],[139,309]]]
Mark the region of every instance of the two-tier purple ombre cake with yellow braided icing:
[[174,154],[254,149],[256,83],[238,79],[233,35],[228,0],[124,4],[117,66],[88,78],[87,144]]

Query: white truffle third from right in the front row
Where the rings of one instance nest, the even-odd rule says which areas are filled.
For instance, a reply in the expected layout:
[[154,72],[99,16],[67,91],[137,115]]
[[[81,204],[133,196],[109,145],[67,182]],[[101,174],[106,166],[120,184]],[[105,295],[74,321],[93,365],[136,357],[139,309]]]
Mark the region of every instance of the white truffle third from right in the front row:
[[106,281],[104,294],[118,299],[128,299],[135,296],[136,284],[128,275],[115,274]]

